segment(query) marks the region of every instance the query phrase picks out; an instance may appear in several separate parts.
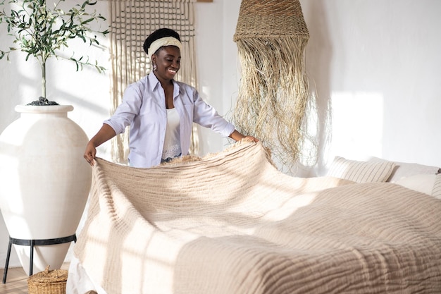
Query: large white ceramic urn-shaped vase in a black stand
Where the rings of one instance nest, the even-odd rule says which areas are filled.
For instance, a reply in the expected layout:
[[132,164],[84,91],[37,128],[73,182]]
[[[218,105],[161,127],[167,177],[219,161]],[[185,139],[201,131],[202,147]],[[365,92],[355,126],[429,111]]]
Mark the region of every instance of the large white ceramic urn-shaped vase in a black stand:
[[[92,170],[82,158],[87,135],[68,118],[73,106],[15,106],[20,118],[0,135],[0,209],[11,238],[74,235]],[[59,269],[72,242],[36,246],[33,273]],[[13,245],[30,274],[30,246]],[[6,250],[6,248],[4,248]]]

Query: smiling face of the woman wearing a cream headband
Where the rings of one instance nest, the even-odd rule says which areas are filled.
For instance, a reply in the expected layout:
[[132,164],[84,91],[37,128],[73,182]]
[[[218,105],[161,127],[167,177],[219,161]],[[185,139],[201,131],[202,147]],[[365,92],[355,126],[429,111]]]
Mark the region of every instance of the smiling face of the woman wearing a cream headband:
[[164,46],[152,56],[156,64],[156,77],[159,80],[173,80],[180,68],[180,49],[175,46]]

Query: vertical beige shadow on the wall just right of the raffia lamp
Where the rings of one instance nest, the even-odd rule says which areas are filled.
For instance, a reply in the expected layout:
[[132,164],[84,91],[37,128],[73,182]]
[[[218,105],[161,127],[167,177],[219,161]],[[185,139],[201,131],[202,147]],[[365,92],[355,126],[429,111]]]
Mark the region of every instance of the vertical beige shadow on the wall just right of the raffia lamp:
[[309,30],[306,46],[306,72],[309,76],[310,92],[315,97],[317,112],[317,165],[316,173],[325,168],[326,150],[331,140],[332,107],[330,93],[330,62],[333,56],[326,18],[325,0],[311,1],[304,15]]

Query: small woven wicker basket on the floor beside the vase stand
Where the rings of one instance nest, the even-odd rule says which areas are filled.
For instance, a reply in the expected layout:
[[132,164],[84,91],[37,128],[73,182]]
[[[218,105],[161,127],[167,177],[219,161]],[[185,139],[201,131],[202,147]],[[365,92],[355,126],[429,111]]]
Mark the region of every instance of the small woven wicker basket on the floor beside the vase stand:
[[55,269],[49,271],[49,266],[44,271],[33,274],[27,278],[29,294],[66,294],[68,271]]

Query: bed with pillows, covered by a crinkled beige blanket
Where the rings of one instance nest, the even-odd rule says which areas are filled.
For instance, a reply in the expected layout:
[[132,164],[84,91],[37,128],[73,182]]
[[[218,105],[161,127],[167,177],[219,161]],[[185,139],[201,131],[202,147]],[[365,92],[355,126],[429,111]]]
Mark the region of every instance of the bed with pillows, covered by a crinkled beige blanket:
[[151,169],[97,159],[66,292],[441,293],[438,168],[337,157],[295,178],[270,158],[241,142]]

